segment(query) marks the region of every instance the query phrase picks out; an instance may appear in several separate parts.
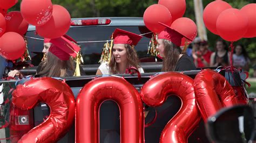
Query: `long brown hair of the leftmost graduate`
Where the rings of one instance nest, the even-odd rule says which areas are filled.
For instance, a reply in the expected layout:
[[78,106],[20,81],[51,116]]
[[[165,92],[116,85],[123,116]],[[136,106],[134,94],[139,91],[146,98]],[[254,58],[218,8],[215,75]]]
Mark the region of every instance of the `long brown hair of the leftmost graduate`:
[[66,69],[75,71],[75,66],[73,65],[72,59],[67,61],[60,60],[51,52],[48,52],[47,59],[42,61],[39,66],[42,66],[41,71],[37,73],[37,75],[40,77],[63,77],[68,76]]

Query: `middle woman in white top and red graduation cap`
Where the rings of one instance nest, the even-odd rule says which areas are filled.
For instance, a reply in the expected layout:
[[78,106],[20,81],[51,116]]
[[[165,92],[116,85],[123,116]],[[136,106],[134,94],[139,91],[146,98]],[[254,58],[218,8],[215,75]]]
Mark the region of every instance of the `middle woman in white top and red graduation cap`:
[[113,32],[113,48],[109,63],[103,62],[96,75],[125,74],[127,69],[133,67],[140,73],[144,70],[139,66],[137,53],[134,49],[142,36],[117,28]]

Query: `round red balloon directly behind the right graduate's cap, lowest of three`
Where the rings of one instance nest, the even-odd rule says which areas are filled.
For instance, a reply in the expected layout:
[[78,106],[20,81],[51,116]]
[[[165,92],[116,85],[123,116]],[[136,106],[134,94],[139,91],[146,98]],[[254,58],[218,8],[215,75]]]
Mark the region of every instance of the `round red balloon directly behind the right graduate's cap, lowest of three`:
[[185,35],[187,38],[191,39],[191,40],[188,40],[187,38],[183,37],[181,39],[180,46],[184,46],[185,43],[186,45],[190,44],[194,40],[194,38],[197,37],[197,25],[190,18],[186,18],[186,17],[178,18],[172,23],[171,28]]

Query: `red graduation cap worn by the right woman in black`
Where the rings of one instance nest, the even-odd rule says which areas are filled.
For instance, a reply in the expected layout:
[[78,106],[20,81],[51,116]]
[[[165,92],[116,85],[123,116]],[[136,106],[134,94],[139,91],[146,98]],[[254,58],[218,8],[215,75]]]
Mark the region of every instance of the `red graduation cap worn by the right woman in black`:
[[165,25],[163,23],[158,22],[161,25],[164,25],[166,28],[164,31],[160,32],[158,35],[158,39],[166,39],[171,42],[173,42],[176,46],[180,46],[182,43],[182,38],[186,38],[187,40],[193,41],[192,39],[186,37],[186,35],[183,35],[179,33],[178,31],[174,30],[168,25]]

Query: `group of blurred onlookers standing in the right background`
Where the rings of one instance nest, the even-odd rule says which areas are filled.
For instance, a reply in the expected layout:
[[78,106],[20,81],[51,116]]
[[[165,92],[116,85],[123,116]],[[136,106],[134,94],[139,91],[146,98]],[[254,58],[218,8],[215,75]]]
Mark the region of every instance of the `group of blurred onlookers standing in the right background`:
[[[223,39],[215,41],[214,52],[209,49],[208,42],[199,37],[194,39],[192,45],[192,58],[197,68],[230,65],[230,52],[227,43]],[[234,46],[232,63],[237,69],[249,70],[250,58],[242,44]]]

